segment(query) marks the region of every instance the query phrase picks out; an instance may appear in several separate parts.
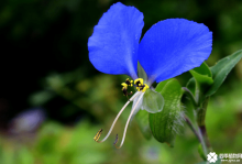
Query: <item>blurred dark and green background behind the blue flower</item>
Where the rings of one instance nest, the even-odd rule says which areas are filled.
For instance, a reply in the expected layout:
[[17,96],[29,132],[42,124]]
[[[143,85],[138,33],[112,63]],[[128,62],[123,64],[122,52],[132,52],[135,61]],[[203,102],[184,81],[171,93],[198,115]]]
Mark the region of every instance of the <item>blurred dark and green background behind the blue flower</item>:
[[[198,163],[198,141],[184,127],[175,147],[145,140],[135,120],[124,145],[112,145],[123,133],[130,107],[111,136],[109,130],[127,98],[124,75],[106,75],[88,59],[87,41],[114,0],[1,0],[0,163],[102,164]],[[205,23],[213,32],[207,61],[242,48],[241,0],[124,0],[144,13],[143,34],[168,18]],[[177,77],[184,86],[190,75]],[[242,61],[211,97],[206,124],[213,151],[242,153]],[[241,160],[242,162],[242,160]]]

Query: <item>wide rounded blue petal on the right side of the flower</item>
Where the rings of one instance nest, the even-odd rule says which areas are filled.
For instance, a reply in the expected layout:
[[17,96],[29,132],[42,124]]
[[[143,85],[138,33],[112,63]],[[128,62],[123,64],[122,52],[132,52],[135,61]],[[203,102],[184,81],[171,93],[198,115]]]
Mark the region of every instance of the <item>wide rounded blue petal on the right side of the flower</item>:
[[207,59],[212,50],[212,32],[185,19],[168,19],[154,24],[139,47],[139,62],[157,83],[175,77]]

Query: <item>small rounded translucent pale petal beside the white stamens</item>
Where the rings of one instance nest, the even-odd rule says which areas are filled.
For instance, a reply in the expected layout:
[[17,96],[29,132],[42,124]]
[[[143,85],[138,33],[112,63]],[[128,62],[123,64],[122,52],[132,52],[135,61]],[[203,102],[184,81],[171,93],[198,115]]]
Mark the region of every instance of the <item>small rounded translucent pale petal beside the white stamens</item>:
[[147,89],[143,96],[142,109],[145,109],[147,112],[156,113],[163,110],[164,98],[161,94]]

